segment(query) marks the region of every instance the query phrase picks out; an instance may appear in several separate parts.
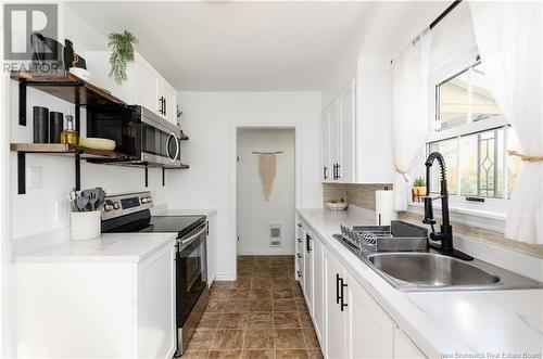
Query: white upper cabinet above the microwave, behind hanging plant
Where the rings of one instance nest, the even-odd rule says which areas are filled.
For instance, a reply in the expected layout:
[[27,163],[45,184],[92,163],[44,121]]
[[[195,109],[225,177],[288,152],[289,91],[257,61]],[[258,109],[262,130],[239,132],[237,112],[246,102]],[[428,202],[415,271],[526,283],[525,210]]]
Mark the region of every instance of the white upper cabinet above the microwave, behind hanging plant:
[[177,124],[177,94],[164,77],[139,53],[126,68],[127,80],[118,85],[110,74],[110,51],[85,53],[90,82],[104,88],[130,105],[141,105],[156,115]]

